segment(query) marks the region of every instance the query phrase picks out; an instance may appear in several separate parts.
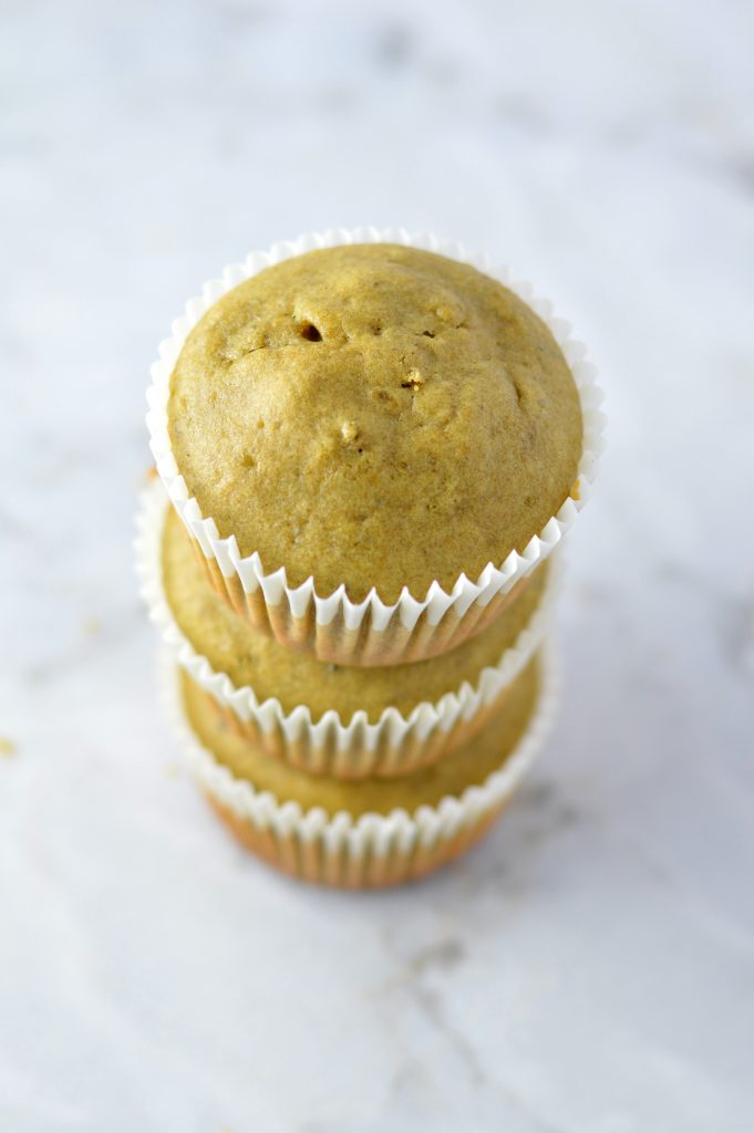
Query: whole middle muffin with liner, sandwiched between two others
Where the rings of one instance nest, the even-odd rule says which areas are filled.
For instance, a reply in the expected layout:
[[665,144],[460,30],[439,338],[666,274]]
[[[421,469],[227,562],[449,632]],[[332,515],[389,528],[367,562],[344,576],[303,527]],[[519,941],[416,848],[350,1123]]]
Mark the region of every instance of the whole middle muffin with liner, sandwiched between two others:
[[229,726],[312,774],[404,775],[452,751],[502,705],[547,629],[553,571],[544,564],[486,630],[447,654],[334,665],[286,649],[228,607],[159,486],[143,529],[147,597],[184,668]]

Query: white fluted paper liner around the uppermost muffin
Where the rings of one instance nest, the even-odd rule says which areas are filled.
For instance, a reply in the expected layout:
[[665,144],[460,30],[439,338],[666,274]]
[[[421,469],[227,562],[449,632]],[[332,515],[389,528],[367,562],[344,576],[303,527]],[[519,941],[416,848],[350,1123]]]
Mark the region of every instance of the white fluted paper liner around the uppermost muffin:
[[[519,296],[543,320],[570,366],[583,412],[583,451],[577,470],[578,499],[568,497],[560,510],[533,536],[523,552],[511,551],[497,566],[488,563],[476,581],[460,574],[448,591],[435,580],[423,598],[404,588],[398,600],[384,603],[372,589],[361,603],[350,600],[344,585],[319,595],[313,578],[289,587],[285,566],[265,572],[257,553],[242,556],[234,535],[220,538],[211,517],[204,517],[190,497],[178,471],[168,432],[170,376],[183,344],[204,313],[227,291],[272,264],[315,248],[344,244],[401,244],[435,252],[472,264],[498,279]],[[585,347],[569,337],[570,326],[552,315],[552,304],[533,298],[530,283],[515,282],[507,269],[495,266],[485,255],[431,233],[409,233],[403,228],[329,229],[310,232],[296,240],[282,240],[269,252],[254,252],[243,264],[224,270],[221,279],[204,286],[201,297],[186,305],[185,315],[172,323],[171,337],[160,344],[160,358],[152,366],[146,416],[150,444],[158,472],[168,495],[198,544],[214,585],[255,628],[271,633],[281,644],[311,650],[320,659],[340,664],[389,664],[418,661],[452,648],[485,624],[484,611],[541,562],[571,527],[590,494],[603,448],[605,417],[600,412],[602,392],[595,383],[595,367],[585,361]],[[492,610],[491,613],[494,613]]]

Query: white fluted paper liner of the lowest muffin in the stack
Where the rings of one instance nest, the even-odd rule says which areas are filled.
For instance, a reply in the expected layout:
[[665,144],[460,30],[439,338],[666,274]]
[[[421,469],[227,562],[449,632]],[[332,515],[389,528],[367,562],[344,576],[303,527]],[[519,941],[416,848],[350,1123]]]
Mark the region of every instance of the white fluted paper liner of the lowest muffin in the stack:
[[303,880],[342,888],[396,885],[444,864],[476,842],[501,813],[532,767],[560,700],[560,672],[552,645],[541,654],[540,695],[522,739],[481,785],[447,795],[413,813],[347,811],[328,816],[256,791],[235,776],[200,742],[183,709],[179,668],[161,651],[161,685],[173,731],[190,770],[236,835],[270,864]]

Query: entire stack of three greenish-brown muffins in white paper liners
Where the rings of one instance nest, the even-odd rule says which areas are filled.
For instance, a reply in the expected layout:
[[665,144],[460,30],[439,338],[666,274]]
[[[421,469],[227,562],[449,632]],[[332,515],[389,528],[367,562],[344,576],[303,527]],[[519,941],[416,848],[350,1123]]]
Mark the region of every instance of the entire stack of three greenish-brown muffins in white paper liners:
[[421,876],[551,713],[550,552],[601,416],[544,304],[457,246],[328,232],[228,269],[153,367],[138,553],[205,793],[272,864]]

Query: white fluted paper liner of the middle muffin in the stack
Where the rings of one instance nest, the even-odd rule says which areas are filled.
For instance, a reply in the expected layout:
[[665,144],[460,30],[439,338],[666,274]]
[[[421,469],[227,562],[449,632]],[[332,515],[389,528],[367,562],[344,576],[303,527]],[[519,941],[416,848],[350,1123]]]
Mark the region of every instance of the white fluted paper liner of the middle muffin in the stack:
[[370,723],[363,710],[344,722],[334,709],[315,722],[305,705],[286,712],[274,697],[260,701],[249,685],[237,688],[183,633],[162,583],[161,542],[168,505],[164,489],[155,480],[143,493],[137,517],[136,569],[150,619],[178,664],[231,716],[231,725],[235,717],[240,734],[310,774],[337,778],[403,775],[447,755],[466,742],[494,710],[542,644],[552,620],[560,571],[550,568],[550,578],[527,624],[498,664],[482,670],[475,684],[464,681],[455,692],[434,702],[422,701],[408,715],[395,706],[387,707],[375,723]]

